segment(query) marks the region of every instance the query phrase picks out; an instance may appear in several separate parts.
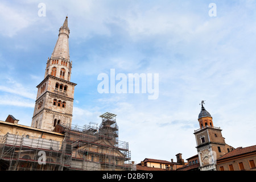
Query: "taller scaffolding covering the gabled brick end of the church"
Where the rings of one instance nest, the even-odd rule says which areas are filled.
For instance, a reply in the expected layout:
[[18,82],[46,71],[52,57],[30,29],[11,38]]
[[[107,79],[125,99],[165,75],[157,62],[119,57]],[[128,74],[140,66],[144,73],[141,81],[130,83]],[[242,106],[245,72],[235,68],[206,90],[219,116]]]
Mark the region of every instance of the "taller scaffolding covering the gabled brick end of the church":
[[115,114],[100,115],[102,122],[80,126],[63,126],[63,133],[72,145],[70,170],[130,170],[129,144],[118,140]]

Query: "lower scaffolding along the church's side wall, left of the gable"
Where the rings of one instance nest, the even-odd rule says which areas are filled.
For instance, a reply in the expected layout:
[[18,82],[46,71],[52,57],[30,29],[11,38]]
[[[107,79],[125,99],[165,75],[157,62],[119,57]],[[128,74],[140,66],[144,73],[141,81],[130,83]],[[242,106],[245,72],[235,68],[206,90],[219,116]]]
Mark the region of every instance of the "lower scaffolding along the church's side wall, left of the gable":
[[[1,136],[1,170],[9,171],[59,171],[69,165],[71,152],[65,151],[63,142],[7,133]],[[69,154],[68,154],[69,153]],[[42,165],[43,164],[43,165]]]

